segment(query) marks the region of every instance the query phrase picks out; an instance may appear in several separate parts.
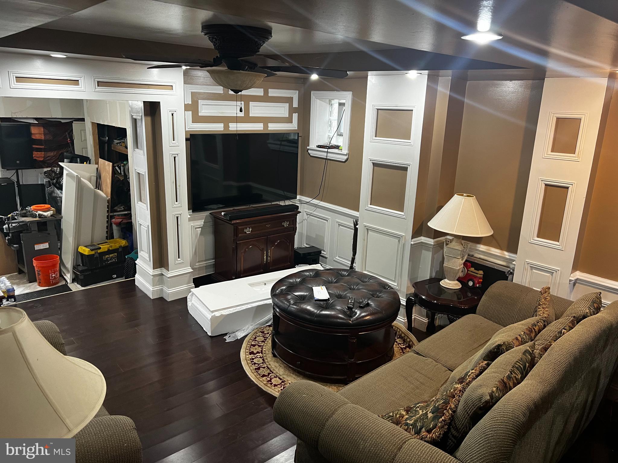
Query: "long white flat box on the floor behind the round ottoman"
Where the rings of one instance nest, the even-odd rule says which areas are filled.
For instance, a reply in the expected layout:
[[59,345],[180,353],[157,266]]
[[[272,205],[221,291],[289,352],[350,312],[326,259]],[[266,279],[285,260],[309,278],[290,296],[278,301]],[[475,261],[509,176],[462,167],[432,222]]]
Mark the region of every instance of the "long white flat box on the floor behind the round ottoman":
[[210,336],[240,330],[273,312],[270,290],[274,283],[305,269],[323,267],[307,265],[200,286],[187,297],[189,313]]

